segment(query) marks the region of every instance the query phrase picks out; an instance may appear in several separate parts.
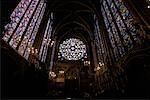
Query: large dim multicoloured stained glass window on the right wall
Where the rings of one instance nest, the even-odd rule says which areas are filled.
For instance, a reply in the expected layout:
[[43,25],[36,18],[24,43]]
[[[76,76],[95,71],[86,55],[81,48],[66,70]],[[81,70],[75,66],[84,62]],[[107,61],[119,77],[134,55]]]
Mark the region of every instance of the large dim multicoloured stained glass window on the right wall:
[[133,47],[134,41],[139,40],[133,17],[122,0],[103,0],[101,12],[117,59]]

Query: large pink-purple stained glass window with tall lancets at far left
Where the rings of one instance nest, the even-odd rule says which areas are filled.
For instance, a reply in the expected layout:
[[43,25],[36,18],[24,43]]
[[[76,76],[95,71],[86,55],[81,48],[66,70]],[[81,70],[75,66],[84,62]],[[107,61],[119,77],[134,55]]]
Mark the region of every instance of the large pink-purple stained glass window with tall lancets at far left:
[[28,59],[46,8],[44,0],[22,0],[5,27],[3,40]]

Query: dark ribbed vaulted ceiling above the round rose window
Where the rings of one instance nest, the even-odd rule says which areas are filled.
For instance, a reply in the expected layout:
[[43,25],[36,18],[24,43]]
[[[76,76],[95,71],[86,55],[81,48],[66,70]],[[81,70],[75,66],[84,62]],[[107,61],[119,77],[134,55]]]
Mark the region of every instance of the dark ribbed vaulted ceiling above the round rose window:
[[[48,1],[49,12],[54,13],[53,33],[58,36],[75,34],[90,41],[92,39],[93,13],[99,0]],[[97,2],[97,3],[96,3]]]

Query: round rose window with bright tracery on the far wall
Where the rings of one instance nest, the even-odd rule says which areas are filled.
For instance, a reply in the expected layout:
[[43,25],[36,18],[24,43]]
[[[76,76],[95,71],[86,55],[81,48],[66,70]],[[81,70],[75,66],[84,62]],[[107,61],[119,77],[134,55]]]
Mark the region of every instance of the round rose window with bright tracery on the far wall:
[[66,60],[80,60],[86,55],[86,45],[79,39],[66,39],[59,46],[58,56],[62,56]]

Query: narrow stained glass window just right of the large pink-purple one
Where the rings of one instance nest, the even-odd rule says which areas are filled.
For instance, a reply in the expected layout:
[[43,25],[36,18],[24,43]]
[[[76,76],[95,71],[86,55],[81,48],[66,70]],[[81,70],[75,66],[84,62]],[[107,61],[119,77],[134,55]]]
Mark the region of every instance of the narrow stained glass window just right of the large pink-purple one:
[[45,62],[47,51],[48,51],[48,45],[50,43],[52,43],[52,41],[50,39],[51,38],[51,32],[52,32],[52,23],[53,23],[52,19],[53,19],[53,13],[51,13],[51,15],[48,19],[47,26],[46,26],[45,33],[44,33],[44,37],[42,40],[42,45],[40,48],[39,59],[42,62]]

